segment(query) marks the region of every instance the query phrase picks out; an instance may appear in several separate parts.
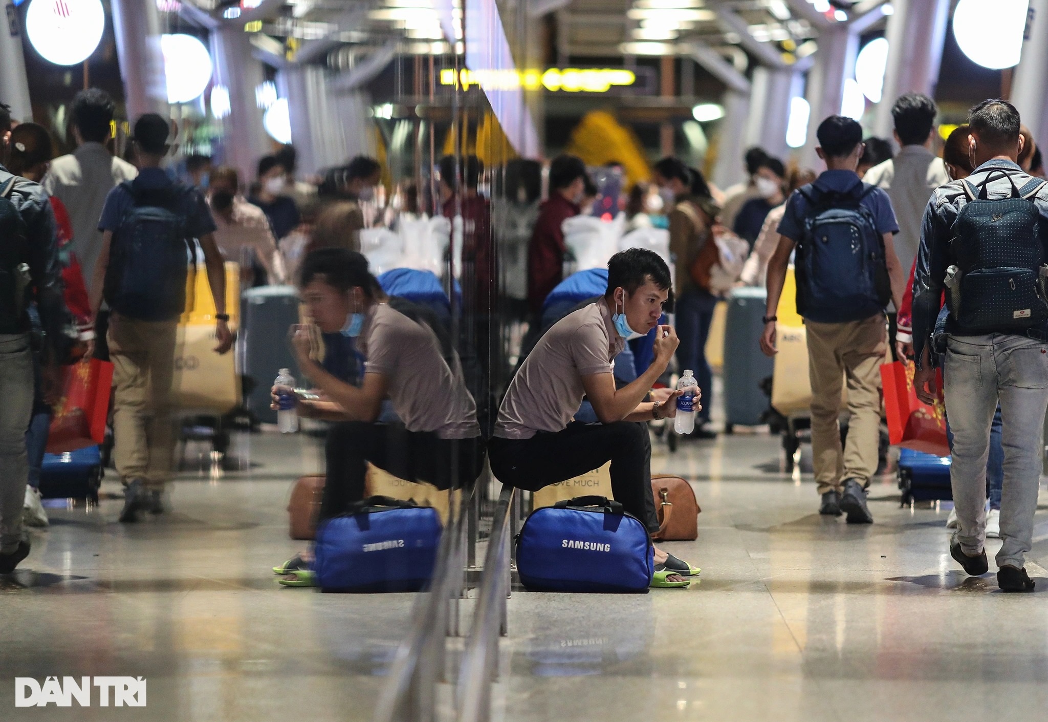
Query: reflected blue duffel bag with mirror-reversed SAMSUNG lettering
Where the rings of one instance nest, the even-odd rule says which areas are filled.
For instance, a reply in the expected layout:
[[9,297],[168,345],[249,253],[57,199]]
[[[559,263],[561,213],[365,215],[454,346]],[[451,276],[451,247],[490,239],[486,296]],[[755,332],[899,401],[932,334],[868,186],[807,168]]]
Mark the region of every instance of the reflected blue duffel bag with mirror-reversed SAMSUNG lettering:
[[417,592],[433,576],[441,529],[432,507],[388,496],[357,502],[316,530],[316,583],[324,592]]

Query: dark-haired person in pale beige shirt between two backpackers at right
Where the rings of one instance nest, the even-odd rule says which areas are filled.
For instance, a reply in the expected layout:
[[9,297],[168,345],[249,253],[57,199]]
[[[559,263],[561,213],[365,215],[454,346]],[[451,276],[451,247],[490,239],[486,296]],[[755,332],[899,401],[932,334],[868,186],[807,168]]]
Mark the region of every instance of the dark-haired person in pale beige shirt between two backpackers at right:
[[949,183],[942,158],[932,152],[938,112],[935,101],[917,92],[908,92],[895,101],[895,140],[902,149],[895,157],[871,168],[863,178],[888,191],[899,224],[895,252],[903,269],[912,267],[917,257],[927,199],[936,188]]

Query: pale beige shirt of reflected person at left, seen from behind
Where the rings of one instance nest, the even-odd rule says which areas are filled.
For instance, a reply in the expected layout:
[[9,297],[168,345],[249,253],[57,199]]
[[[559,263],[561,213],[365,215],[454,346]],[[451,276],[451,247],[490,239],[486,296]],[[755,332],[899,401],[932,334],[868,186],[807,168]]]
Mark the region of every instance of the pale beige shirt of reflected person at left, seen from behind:
[[[44,190],[61,200],[72,225],[72,252],[77,254],[84,282],[90,286],[94,266],[102,253],[99,220],[106,196],[114,187],[138,175],[138,169],[114,157],[101,143],[84,143],[71,154],[51,161],[44,176]],[[90,292],[90,288],[88,288]]]

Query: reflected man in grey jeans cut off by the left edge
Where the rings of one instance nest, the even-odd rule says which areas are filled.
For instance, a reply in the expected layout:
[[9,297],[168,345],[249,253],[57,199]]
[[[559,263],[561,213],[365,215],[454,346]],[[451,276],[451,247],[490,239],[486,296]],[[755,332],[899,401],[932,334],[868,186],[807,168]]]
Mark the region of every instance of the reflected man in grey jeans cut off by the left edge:
[[[10,129],[10,111],[0,103],[0,163],[9,154]],[[29,477],[25,429],[34,396],[28,301],[37,301],[44,330],[41,360],[48,397],[54,392],[56,343],[62,338],[65,311],[54,214],[47,193],[2,165],[0,239],[0,574],[10,574],[29,554],[29,543],[22,538]]]

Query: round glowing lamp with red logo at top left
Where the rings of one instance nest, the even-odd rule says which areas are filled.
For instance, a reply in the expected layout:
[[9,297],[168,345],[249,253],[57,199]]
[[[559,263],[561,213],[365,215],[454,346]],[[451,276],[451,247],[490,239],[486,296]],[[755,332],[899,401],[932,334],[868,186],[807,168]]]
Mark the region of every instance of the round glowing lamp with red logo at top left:
[[25,13],[29,43],[56,65],[87,60],[105,27],[106,12],[100,0],[32,0]]

